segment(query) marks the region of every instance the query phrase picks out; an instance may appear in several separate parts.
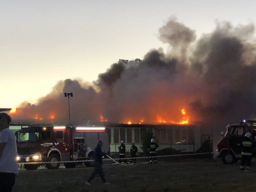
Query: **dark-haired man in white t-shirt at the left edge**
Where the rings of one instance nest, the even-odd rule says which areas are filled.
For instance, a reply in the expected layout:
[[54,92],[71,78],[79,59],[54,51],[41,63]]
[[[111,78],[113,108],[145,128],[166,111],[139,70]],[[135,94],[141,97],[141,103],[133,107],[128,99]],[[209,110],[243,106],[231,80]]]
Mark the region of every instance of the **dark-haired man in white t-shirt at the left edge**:
[[11,117],[0,113],[0,191],[11,192],[15,183],[18,165],[17,145],[14,132],[9,129]]

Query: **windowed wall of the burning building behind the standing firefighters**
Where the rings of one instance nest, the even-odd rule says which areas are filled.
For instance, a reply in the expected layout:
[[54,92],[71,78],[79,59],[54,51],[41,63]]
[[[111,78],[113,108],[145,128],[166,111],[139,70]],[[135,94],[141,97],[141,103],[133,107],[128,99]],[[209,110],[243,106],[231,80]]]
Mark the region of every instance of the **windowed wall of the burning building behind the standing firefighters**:
[[111,130],[110,152],[118,152],[120,141],[123,140],[126,145],[126,152],[130,152],[132,143],[141,149],[141,136],[147,130],[152,130],[156,137],[156,142],[159,145],[158,150],[164,148],[173,148],[187,152],[197,151],[201,147],[201,131],[196,126],[182,126],[182,125],[167,125],[167,126],[117,126],[109,127]]

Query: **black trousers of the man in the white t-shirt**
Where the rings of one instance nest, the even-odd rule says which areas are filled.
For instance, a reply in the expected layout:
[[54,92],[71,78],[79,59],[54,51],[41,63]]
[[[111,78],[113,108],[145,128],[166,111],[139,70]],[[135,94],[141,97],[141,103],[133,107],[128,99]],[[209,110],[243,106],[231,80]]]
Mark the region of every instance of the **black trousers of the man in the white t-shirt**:
[[0,172],[0,191],[11,192],[15,183],[15,173]]

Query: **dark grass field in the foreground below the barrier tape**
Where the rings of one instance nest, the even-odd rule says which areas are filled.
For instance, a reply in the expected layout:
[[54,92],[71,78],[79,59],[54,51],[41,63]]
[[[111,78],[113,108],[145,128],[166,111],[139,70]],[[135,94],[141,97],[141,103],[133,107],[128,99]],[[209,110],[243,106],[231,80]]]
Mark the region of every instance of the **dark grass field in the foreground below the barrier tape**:
[[220,159],[175,162],[159,159],[157,164],[104,165],[105,178],[111,183],[107,186],[102,184],[99,176],[91,181],[92,186],[85,184],[93,167],[21,169],[13,192],[256,191],[256,162],[252,162],[251,172],[241,171],[239,164],[240,161],[224,165]]

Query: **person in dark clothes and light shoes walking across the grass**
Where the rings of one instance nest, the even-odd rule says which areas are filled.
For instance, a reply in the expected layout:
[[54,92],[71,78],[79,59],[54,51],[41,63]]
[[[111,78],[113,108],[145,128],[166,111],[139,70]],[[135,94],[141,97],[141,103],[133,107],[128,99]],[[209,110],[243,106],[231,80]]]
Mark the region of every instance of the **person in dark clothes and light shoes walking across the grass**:
[[103,173],[103,170],[102,170],[102,166],[101,166],[102,165],[102,157],[106,156],[106,153],[102,152],[102,150],[101,150],[102,145],[103,145],[102,140],[99,140],[96,148],[94,149],[94,171],[90,175],[89,179],[86,181],[85,184],[87,184],[87,185],[91,185],[90,181],[93,180],[93,178],[97,174],[99,174],[99,176],[100,176],[100,178],[103,182],[103,185],[109,185],[110,184],[110,183],[106,182],[106,179],[104,177],[104,173]]

